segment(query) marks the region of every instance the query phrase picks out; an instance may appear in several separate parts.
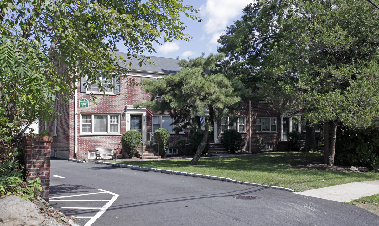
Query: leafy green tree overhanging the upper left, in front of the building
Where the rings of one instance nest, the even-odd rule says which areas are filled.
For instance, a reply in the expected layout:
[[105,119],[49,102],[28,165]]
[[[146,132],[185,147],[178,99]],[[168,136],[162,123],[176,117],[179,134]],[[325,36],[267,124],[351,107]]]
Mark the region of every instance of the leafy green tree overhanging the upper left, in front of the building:
[[[49,119],[80,77],[100,91],[114,88],[102,79],[125,76],[132,60],[151,63],[138,54],[155,52],[153,43],[188,41],[180,15],[201,21],[194,13],[182,0],[1,0],[0,138],[7,143],[23,123]],[[117,43],[128,59],[116,57]]]

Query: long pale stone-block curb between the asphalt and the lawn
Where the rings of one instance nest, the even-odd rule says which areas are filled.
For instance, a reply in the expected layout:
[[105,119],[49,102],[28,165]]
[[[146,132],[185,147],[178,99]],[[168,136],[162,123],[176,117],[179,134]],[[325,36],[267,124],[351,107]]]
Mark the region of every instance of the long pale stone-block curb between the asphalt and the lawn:
[[140,167],[140,166],[131,166],[131,165],[125,165],[125,164],[119,164],[119,163],[109,163],[109,162],[102,162],[102,161],[96,161],[97,164],[105,164],[110,166],[117,166],[117,167],[123,167],[123,168],[131,168],[131,169],[139,169],[144,171],[153,171],[153,172],[161,172],[164,174],[177,174],[177,175],[183,175],[183,176],[190,176],[190,177],[201,177],[201,178],[207,178],[212,180],[221,180],[226,182],[233,182],[233,183],[240,183],[244,185],[252,185],[257,187],[263,187],[263,188],[273,188],[273,189],[279,189],[289,192],[294,192],[291,188],[283,188],[283,187],[277,187],[277,186],[271,186],[271,185],[262,185],[259,183],[249,183],[249,182],[243,182],[238,180],[233,180],[227,177],[215,177],[210,175],[204,175],[204,174],[193,174],[188,172],[180,172],[180,171],[171,171],[166,169],[154,169],[154,168],[146,168],[146,167]]

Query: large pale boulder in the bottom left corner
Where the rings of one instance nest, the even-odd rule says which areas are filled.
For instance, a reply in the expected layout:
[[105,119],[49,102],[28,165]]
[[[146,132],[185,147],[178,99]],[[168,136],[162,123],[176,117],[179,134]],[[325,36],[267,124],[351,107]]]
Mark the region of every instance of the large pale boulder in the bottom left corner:
[[0,200],[0,224],[2,226],[40,226],[45,219],[37,206],[15,195]]

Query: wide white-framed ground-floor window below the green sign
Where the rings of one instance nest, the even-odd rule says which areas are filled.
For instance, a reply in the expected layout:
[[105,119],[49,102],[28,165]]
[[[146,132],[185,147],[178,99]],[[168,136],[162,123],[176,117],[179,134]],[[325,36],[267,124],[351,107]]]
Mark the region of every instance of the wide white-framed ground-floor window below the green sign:
[[119,134],[120,115],[82,114],[81,134]]

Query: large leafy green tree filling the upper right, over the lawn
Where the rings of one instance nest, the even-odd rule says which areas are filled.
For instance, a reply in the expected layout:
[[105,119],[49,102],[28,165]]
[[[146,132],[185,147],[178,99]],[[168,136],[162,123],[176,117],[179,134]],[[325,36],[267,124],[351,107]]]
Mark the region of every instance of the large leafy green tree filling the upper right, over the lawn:
[[282,113],[323,123],[326,164],[334,163],[340,122],[351,128],[379,116],[379,11],[365,0],[262,1],[244,9],[218,51],[230,71]]

